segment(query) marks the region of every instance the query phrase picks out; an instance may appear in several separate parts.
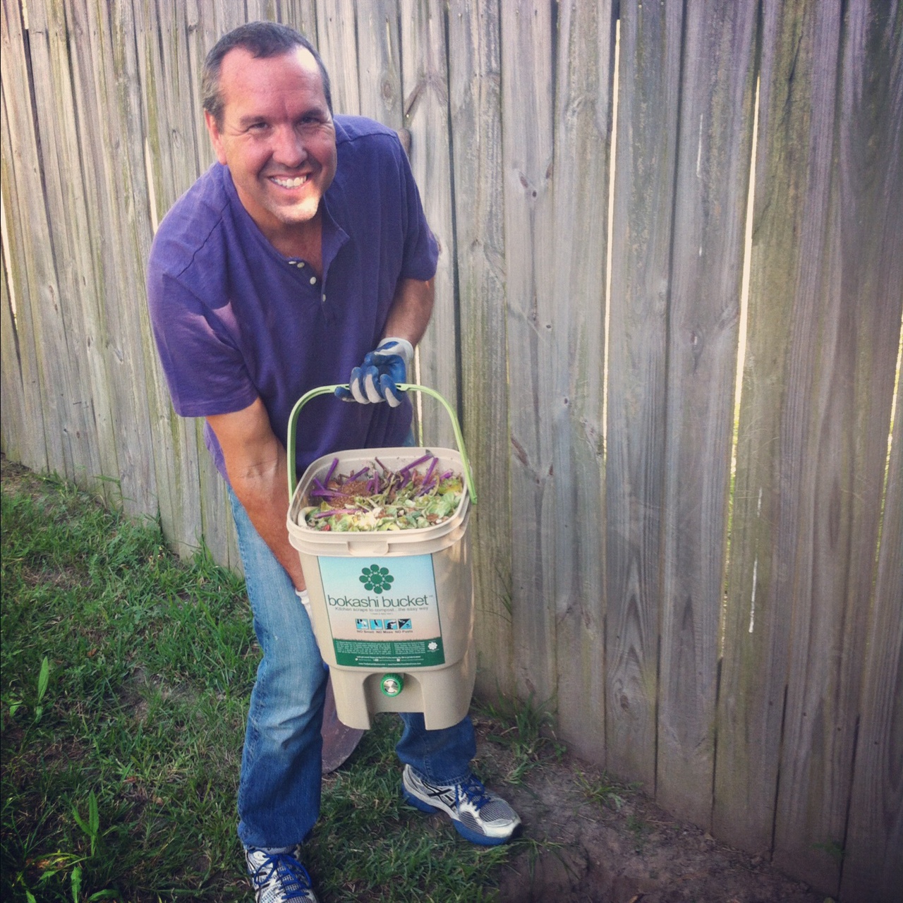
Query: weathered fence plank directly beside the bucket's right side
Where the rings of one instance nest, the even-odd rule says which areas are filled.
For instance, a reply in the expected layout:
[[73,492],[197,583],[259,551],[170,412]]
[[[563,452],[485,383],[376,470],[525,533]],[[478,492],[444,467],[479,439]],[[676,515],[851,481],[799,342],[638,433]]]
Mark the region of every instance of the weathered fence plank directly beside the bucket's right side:
[[477,692],[493,699],[514,690],[500,27],[494,0],[449,5],[461,413],[479,498],[470,522]]

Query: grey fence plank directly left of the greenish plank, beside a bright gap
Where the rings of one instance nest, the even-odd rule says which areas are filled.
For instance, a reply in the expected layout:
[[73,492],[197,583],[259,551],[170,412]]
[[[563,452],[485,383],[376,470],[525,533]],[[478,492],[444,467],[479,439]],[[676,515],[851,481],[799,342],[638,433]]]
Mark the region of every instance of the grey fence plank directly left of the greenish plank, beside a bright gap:
[[668,340],[656,798],[712,817],[757,11],[687,6]]

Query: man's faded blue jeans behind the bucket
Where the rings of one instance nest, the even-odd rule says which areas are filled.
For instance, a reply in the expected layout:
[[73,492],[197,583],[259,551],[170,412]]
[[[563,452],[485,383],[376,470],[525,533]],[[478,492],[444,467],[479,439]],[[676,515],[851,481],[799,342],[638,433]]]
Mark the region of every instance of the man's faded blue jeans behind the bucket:
[[[303,841],[320,816],[321,727],[327,672],[294,585],[228,490],[245,566],[247,597],[263,652],[251,691],[238,784],[238,837],[246,847]],[[421,712],[402,714],[398,758],[434,783],[470,774],[470,717],[427,731]]]

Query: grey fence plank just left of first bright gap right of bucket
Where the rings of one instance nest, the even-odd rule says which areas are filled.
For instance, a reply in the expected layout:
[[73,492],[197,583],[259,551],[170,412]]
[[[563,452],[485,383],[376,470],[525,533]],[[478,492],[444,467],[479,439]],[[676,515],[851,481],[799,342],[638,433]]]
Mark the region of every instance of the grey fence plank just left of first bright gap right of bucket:
[[615,20],[559,7],[554,116],[554,616],[560,736],[605,759],[605,263]]

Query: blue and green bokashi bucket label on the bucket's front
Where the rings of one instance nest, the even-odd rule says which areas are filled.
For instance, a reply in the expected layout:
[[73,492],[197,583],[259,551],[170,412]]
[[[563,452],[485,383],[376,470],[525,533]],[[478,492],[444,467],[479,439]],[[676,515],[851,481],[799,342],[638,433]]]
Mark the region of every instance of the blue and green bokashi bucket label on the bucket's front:
[[433,555],[317,561],[338,665],[445,664]]

